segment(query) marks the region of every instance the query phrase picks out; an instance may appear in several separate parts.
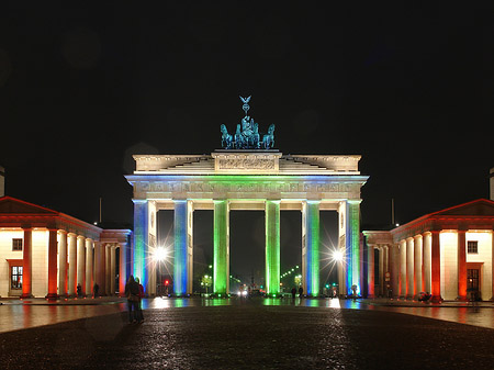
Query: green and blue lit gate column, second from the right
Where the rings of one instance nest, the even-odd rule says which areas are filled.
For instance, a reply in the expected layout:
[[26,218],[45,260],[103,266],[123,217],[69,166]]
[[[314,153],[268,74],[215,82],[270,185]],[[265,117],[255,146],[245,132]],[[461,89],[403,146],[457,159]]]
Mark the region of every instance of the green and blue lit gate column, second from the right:
[[319,294],[319,201],[302,203],[302,281],[305,294]]

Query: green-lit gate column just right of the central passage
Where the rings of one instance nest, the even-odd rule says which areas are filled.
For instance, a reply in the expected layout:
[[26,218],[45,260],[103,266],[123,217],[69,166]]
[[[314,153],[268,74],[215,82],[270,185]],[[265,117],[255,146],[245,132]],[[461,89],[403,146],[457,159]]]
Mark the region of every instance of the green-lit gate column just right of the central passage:
[[280,292],[280,201],[266,201],[266,292]]

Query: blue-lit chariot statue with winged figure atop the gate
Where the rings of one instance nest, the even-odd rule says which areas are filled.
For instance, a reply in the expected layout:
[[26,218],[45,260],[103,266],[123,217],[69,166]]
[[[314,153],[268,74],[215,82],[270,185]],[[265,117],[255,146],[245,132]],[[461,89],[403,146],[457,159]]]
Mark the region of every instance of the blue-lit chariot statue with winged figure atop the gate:
[[228,134],[226,125],[222,124],[220,126],[222,132],[222,147],[224,149],[272,149],[274,147],[274,124],[269,125],[268,133],[262,135],[262,139],[260,139],[259,124],[247,114],[250,109],[250,98],[240,97],[244,103],[242,109],[245,112],[245,116],[237,124],[235,135]]

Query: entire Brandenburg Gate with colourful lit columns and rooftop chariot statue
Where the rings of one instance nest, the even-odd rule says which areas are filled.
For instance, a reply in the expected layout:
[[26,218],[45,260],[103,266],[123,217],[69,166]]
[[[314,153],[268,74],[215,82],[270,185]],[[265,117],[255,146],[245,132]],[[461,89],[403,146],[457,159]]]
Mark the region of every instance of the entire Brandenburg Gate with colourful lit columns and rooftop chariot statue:
[[[126,176],[134,188],[132,271],[148,294],[156,294],[151,254],[157,248],[156,213],[173,210],[173,292],[192,293],[193,212],[213,210],[213,291],[229,293],[229,211],[262,210],[266,221],[266,292],[280,292],[280,212],[302,212],[302,287],[319,294],[319,211],[338,212],[338,240],[344,256],[340,293],[361,284],[360,188],[368,177],[358,155],[283,155],[273,149],[274,125],[260,139],[247,115],[229,135],[222,125],[223,149],[211,155],[134,155],[136,169]],[[247,109],[246,109],[247,105]],[[242,128],[242,130],[240,130]],[[256,136],[257,135],[257,136]]]

